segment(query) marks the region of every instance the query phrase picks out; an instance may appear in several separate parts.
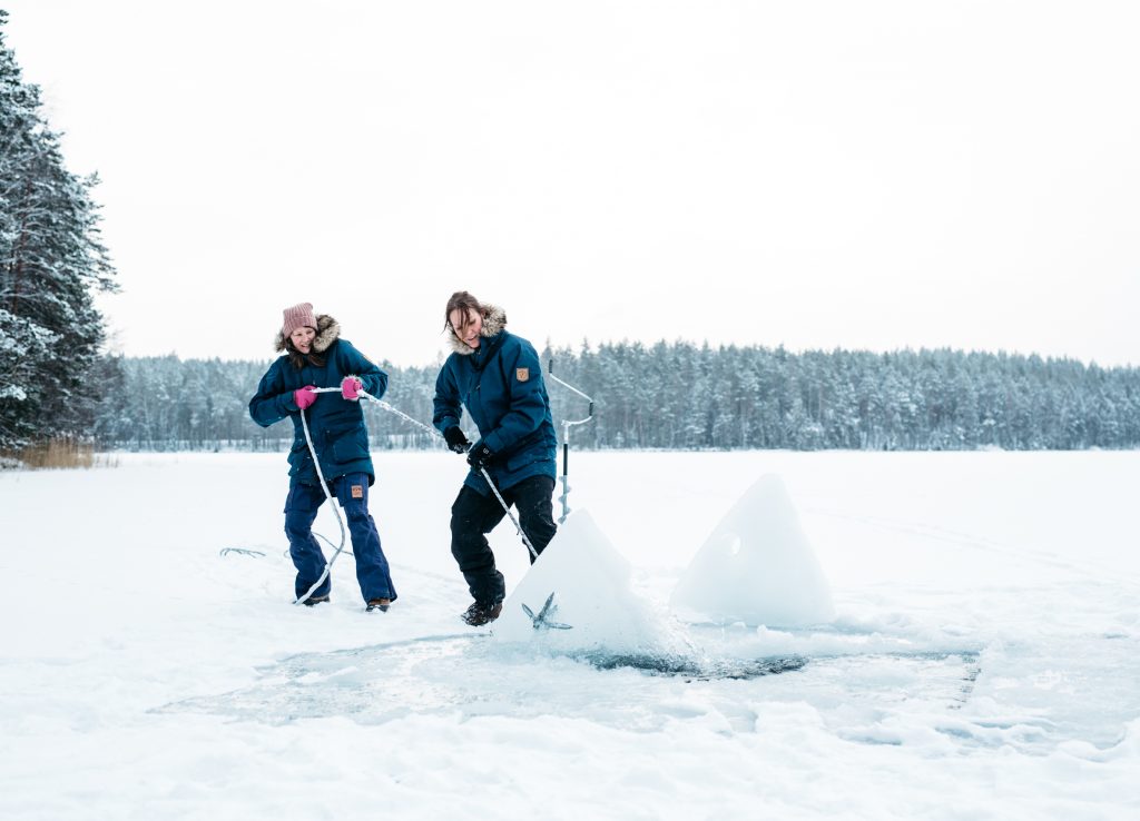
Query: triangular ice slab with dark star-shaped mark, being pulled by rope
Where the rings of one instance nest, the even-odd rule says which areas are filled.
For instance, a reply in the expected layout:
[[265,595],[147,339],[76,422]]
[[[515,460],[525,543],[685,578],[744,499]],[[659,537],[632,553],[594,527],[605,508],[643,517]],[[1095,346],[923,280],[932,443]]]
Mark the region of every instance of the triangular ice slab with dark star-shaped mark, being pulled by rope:
[[[540,616],[551,593],[551,607],[536,627],[523,605]],[[630,589],[629,563],[586,510],[576,510],[503,602],[494,633],[502,641],[538,641],[556,651],[650,654],[669,643],[661,621]]]

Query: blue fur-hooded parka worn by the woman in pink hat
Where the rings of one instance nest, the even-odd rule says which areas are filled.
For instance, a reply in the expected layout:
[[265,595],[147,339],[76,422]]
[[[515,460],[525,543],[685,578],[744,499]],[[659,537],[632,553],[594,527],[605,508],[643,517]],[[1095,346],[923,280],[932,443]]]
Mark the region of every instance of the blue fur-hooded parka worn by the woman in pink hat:
[[[290,485],[320,484],[312,465],[309,446],[301,427],[301,410],[293,401],[293,392],[306,385],[340,388],[347,376],[360,377],[364,389],[380,399],[388,389],[388,373],[340,338],[340,326],[332,317],[317,318],[317,336],[312,350],[325,358],[325,364],[306,363],[294,368],[288,355],[277,359],[261,377],[256,395],[250,400],[250,417],[261,427],[269,427],[286,417],[293,419],[293,448],[288,454]],[[278,335],[279,348],[284,338]],[[320,459],[325,481],[332,482],[345,474],[366,473],[368,484],[376,481],[376,473],[368,453],[368,429],[359,402],[351,402],[340,393],[317,394],[317,401],[306,409],[309,435]]]

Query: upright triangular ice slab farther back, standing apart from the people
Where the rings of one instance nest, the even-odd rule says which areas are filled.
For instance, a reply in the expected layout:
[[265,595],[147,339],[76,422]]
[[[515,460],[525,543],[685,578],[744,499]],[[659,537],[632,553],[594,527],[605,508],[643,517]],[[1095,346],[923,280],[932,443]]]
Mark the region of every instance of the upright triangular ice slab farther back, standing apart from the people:
[[732,507],[669,604],[748,624],[797,626],[834,618],[830,585],[779,476],[762,476]]

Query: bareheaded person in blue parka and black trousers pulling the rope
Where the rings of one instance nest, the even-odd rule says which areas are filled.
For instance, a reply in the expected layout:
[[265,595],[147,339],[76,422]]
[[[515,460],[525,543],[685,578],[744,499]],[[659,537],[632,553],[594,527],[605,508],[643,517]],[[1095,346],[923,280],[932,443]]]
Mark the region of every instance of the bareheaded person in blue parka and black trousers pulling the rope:
[[[506,591],[484,535],[505,511],[482,470],[515,506],[519,524],[540,553],[556,531],[551,498],[557,437],[538,354],[505,329],[506,313],[461,290],[448,299],[445,317],[454,353],[435,380],[433,422],[471,465],[451,506],[451,555],[474,599],[463,621],[480,625],[498,618]],[[463,408],[479,428],[473,445],[459,428]]]

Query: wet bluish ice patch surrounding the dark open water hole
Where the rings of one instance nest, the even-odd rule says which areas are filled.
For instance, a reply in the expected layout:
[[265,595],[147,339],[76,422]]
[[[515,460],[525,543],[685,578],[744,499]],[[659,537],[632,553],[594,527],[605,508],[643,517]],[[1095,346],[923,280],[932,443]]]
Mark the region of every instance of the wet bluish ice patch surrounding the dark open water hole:
[[438,635],[300,654],[261,668],[247,687],[154,712],[271,724],[326,716],[382,724],[414,714],[559,715],[654,730],[675,720],[684,703],[750,732],[750,703],[806,701],[840,724],[885,711],[948,715],[966,698],[977,664],[977,654],[560,655],[488,638]]

